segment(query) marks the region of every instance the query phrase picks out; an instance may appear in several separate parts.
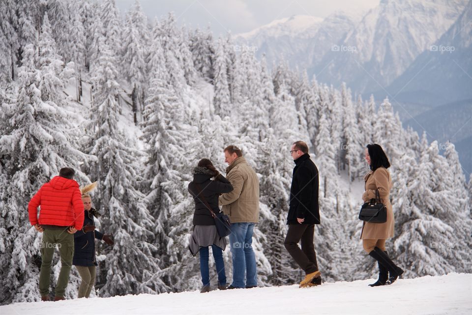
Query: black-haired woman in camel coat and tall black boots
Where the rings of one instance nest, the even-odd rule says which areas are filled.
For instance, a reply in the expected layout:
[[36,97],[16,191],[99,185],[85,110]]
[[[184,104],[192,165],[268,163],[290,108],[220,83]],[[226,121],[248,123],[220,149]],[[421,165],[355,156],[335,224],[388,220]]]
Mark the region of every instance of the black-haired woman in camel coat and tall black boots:
[[390,189],[392,179],[387,168],[390,162],[383,149],[378,144],[369,144],[365,149],[365,160],[369,164],[370,172],[364,176],[365,192],[362,200],[368,202],[376,198],[376,190],[379,191],[380,202],[387,210],[387,221],[384,223],[372,223],[364,221],[360,238],[362,246],[379,265],[379,280],[370,286],[392,284],[403,274],[403,270],[396,266],[385,251],[385,241],[393,237],[395,228],[395,217],[392,204],[390,203]]

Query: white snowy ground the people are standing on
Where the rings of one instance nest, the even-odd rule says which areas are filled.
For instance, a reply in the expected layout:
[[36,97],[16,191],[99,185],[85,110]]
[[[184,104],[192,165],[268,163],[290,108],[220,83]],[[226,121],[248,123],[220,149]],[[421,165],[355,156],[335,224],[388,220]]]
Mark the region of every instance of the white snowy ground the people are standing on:
[[472,314],[472,274],[211,291],[127,295],[59,302],[16,303],[0,314]]

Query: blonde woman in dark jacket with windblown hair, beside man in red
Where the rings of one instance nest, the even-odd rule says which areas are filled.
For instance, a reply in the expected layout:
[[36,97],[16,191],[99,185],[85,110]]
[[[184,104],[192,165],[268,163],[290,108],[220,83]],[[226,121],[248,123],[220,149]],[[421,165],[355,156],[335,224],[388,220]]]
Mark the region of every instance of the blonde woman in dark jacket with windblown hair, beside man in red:
[[92,208],[92,200],[89,191],[94,189],[96,182],[87,185],[82,192],[82,202],[84,203],[84,227],[74,233],[74,258],[72,264],[79,272],[82,282],[79,286],[78,298],[90,296],[92,287],[95,284],[95,273],[97,261],[95,259],[95,239],[103,240],[108,245],[113,245],[111,235],[103,235],[95,230],[93,217],[98,218],[98,211]]

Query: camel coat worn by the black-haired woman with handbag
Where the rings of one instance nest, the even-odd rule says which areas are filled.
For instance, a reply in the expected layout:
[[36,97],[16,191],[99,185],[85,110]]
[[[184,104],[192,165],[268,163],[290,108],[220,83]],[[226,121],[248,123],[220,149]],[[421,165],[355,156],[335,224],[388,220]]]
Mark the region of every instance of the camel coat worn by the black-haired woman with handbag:
[[395,217],[390,203],[390,189],[392,178],[384,167],[379,167],[374,172],[370,171],[364,176],[365,192],[362,194],[364,202],[375,198],[375,190],[379,189],[381,202],[387,208],[387,221],[385,223],[365,222],[362,225],[361,239],[388,239],[393,237],[395,229]]

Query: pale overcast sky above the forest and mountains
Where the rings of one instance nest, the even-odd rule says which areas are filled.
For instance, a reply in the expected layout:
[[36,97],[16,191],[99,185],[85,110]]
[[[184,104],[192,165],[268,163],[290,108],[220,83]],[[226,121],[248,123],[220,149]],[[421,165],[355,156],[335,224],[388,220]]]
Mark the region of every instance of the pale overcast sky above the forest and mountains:
[[[135,0],[116,0],[122,14]],[[153,20],[173,11],[182,25],[207,28],[215,35],[249,32],[273,20],[292,15],[325,17],[336,10],[362,11],[380,0],[140,0]]]

